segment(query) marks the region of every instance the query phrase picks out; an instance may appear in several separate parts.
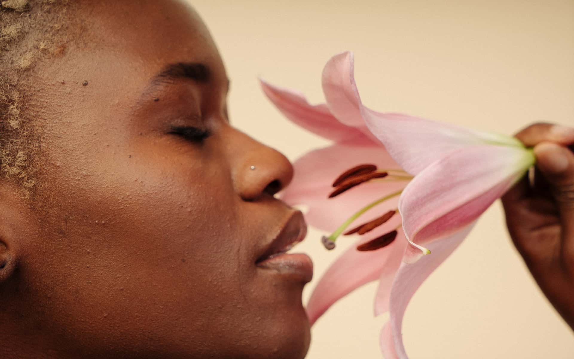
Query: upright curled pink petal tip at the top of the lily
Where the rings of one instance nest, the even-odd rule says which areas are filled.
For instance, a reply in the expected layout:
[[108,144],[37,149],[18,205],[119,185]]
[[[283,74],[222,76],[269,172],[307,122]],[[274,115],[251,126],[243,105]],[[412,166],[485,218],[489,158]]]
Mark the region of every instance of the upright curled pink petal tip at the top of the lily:
[[327,62],[323,69],[323,92],[327,107],[339,121],[349,126],[364,126],[352,52],[339,53]]

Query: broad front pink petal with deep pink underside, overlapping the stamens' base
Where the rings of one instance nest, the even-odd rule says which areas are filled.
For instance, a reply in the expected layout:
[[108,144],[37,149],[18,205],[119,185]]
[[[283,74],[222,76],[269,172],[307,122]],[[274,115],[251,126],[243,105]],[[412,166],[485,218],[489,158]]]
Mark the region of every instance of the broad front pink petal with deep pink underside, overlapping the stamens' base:
[[[533,163],[532,153],[511,146],[457,149],[420,172],[399,202],[407,238],[425,246],[459,231],[502,196]],[[409,248],[405,261],[420,250]]]

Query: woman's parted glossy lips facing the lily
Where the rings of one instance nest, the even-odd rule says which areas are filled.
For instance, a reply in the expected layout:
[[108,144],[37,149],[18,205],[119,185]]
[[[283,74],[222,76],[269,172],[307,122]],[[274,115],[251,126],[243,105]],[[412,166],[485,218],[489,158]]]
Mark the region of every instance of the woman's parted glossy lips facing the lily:
[[307,283],[313,276],[313,263],[307,254],[288,251],[307,236],[307,223],[300,211],[294,212],[276,238],[267,245],[255,264],[261,269],[273,269],[274,274],[294,277]]

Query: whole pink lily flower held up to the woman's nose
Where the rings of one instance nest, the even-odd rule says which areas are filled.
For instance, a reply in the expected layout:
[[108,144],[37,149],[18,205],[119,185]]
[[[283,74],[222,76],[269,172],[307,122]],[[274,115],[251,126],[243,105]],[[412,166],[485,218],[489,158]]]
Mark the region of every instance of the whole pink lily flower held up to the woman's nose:
[[[390,311],[390,320],[381,333],[381,348],[386,358],[408,358],[402,343],[401,326],[410,298],[430,273],[463,241],[480,214],[513,186],[534,164],[535,159],[532,150],[526,149],[513,137],[468,130],[408,115],[377,113],[364,107],[353,78],[353,65],[352,54],[347,52],[334,56],[325,66],[323,90],[331,117],[324,105],[311,106],[293,92],[267,84],[263,84],[263,87],[288,118],[313,132],[325,136],[328,126],[344,131],[341,127],[343,125],[349,131],[352,128],[363,134],[362,137],[351,139],[325,136],[335,140],[335,145],[311,152],[296,162],[296,171],[300,173],[296,174],[296,180],[285,192],[284,198],[293,204],[309,204],[309,223],[319,228],[332,229],[329,227],[332,224],[329,219],[339,219],[330,217],[332,211],[348,213],[350,205],[345,204],[355,204],[359,190],[363,194],[369,191],[372,195],[380,191],[389,192],[390,187],[387,186],[391,184],[397,186],[392,188],[398,189],[397,192],[402,188],[398,211],[402,217],[404,237],[399,236],[396,227],[375,240],[361,240],[360,244],[369,244],[367,249],[377,250],[363,254],[352,248],[344,253],[321,278],[312,294],[308,312],[314,322],[333,302],[366,281],[373,280],[378,274],[381,281],[375,298],[375,315]],[[329,121],[317,121],[312,115],[313,111],[322,113],[324,118],[329,117]],[[332,117],[339,121],[332,121]],[[364,132],[363,123],[366,123],[370,134]],[[385,144],[386,150],[380,144],[371,144],[373,135]],[[346,147],[342,147],[343,143]],[[370,148],[369,153],[360,153],[365,144]],[[389,154],[396,163],[390,160]],[[325,192],[320,192],[320,186],[327,180],[324,178],[327,172],[321,171],[334,167],[339,159],[355,160],[355,164],[364,163],[365,160],[385,159],[385,164],[381,165],[384,169],[378,170],[378,173],[387,173],[390,178],[381,180],[380,177],[362,173],[351,174],[351,178],[344,182],[347,187],[354,184],[353,181],[361,183],[361,187],[345,192],[346,197],[341,195],[340,202],[344,199],[346,203],[335,205],[335,202],[318,197],[325,195]],[[405,172],[397,171],[398,168]],[[367,179],[367,183],[361,182],[362,179]],[[323,182],[316,182],[321,180]],[[388,182],[378,184],[382,188],[367,187],[374,186],[371,182],[385,180]],[[410,182],[407,184],[404,180]],[[340,192],[350,188],[339,184],[338,189]],[[382,208],[383,203],[387,208],[392,208],[393,205],[388,207],[387,197],[394,199],[393,195],[397,192],[386,195],[381,202],[373,202],[375,204],[371,207],[359,210],[327,237],[324,243],[329,245],[334,242],[346,226],[379,203],[381,207],[378,208]],[[327,215],[329,217],[325,219]],[[379,222],[367,222],[359,226],[359,233],[364,226],[370,229]],[[385,248],[379,249],[383,246]],[[371,256],[369,263],[363,263],[363,258],[366,258],[363,255]],[[375,258],[382,258],[385,264],[377,266]],[[371,268],[370,264],[376,267]]]

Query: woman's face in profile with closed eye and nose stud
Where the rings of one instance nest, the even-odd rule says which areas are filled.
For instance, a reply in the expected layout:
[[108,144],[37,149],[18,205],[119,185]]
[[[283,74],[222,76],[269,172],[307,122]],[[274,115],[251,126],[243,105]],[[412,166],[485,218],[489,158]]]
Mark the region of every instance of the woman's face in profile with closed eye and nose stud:
[[207,29],[180,2],[80,3],[84,36],[36,69],[48,211],[5,210],[18,325],[72,357],[304,357],[311,263],[265,260],[305,235],[273,196],[292,167],[231,127]]

